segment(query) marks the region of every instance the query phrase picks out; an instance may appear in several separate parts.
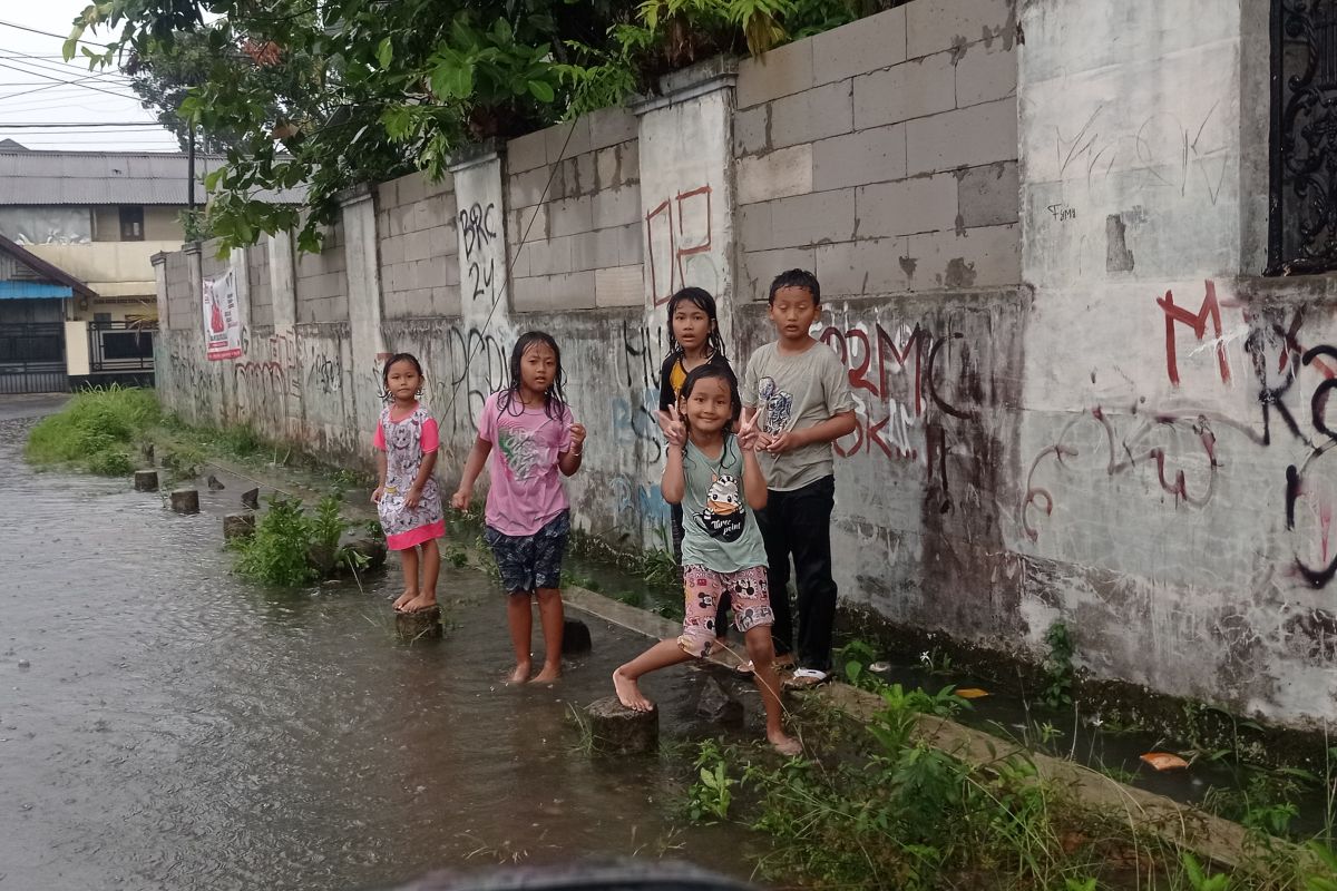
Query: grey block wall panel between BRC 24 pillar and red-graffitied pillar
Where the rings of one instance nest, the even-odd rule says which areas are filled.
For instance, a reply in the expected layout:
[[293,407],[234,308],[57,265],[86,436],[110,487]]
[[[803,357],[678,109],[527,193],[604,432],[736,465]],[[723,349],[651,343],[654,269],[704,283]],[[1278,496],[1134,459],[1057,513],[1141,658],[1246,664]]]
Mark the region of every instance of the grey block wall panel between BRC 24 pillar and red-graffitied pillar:
[[507,236],[517,313],[640,306],[636,119],[595,112],[507,144]]

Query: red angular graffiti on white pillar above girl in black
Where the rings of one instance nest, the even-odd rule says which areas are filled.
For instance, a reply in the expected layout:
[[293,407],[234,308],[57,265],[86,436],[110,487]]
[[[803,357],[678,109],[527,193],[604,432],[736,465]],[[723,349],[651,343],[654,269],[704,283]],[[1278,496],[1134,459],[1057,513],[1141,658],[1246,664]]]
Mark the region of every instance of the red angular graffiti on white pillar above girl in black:
[[710,186],[689,188],[646,214],[646,269],[655,306],[663,306],[687,285],[711,294],[719,290],[718,271],[710,259],[714,244],[710,194]]

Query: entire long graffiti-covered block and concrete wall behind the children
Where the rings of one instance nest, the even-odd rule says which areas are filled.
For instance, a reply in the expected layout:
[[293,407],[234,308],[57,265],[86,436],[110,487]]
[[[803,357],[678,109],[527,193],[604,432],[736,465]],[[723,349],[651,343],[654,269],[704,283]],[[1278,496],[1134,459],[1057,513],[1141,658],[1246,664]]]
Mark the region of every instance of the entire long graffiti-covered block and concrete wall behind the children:
[[[857,401],[837,443],[845,604],[1032,657],[1063,621],[1098,677],[1330,720],[1337,286],[1255,278],[1257,16],[915,0],[679,72],[630,115],[461,156],[435,195],[382,184],[374,214],[350,196],[344,236],[295,271],[270,248],[273,327],[253,287],[237,363],[203,361],[199,258],[168,255],[159,386],[365,465],[380,362],[413,351],[449,489],[515,338],[541,327],[591,431],[578,526],[654,545],[663,303],[713,290],[741,369],[773,338],[770,277],[806,266],[813,334]],[[406,227],[431,200],[433,224]],[[431,256],[388,256],[433,230]],[[405,290],[402,262],[440,271]]]

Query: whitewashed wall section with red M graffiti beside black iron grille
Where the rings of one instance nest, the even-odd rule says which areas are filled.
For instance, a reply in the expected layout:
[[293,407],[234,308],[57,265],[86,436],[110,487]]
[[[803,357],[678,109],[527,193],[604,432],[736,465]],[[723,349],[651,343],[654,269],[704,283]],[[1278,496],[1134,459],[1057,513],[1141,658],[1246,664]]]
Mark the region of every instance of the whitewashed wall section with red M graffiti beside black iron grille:
[[1317,723],[1337,715],[1337,305],[1324,277],[1254,278],[1265,7],[1027,7],[1008,546],[1032,643],[1063,620],[1100,676]]

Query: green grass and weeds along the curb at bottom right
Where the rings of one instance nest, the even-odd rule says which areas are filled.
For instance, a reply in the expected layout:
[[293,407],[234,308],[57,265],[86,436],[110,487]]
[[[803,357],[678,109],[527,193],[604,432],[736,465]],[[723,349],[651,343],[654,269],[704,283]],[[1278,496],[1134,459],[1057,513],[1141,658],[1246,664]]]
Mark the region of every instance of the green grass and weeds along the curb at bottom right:
[[[763,879],[848,891],[1337,891],[1337,855],[1324,835],[1298,856],[1274,838],[1294,816],[1275,804],[1294,793],[1289,784],[1277,788],[1275,775],[1254,780],[1247,797],[1218,801],[1215,810],[1253,830],[1245,862],[1222,870],[1122,811],[1092,808],[1043,780],[1027,752],[1007,747],[979,761],[929,745],[921,716],[953,717],[968,701],[952,687],[927,692],[881,681],[868,671],[866,644],[838,656],[846,677],[881,699],[869,721],[806,699],[797,721],[804,757],[705,740],[683,764],[690,822],[731,822],[769,836],[769,852],[757,859]],[[1332,776],[1326,784],[1333,788]]]

